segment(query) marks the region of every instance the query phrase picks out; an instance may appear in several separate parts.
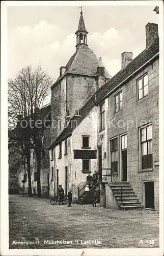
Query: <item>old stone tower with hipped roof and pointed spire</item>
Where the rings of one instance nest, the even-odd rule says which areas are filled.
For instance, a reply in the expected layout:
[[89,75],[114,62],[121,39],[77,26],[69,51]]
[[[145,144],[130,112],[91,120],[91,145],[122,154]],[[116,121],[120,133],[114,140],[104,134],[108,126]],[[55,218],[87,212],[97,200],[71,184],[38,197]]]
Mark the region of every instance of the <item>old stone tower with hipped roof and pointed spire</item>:
[[[52,142],[60,138],[65,130],[65,121],[72,118],[89,98],[108,80],[102,60],[88,47],[83,12],[80,11],[76,34],[76,51],[65,66],[59,70],[59,77],[51,87],[51,129]],[[72,42],[73,44],[74,42]]]

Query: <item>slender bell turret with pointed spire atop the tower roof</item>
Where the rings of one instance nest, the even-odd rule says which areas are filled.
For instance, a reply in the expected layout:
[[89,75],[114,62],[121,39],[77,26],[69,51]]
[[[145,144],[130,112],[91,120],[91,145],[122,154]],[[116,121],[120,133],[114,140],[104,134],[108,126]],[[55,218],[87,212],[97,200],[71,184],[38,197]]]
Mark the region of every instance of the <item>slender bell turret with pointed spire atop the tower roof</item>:
[[75,35],[76,35],[76,51],[78,51],[78,49],[81,45],[88,46],[87,45],[87,34],[88,34],[88,31],[86,30],[86,26],[85,26],[84,18],[83,18],[82,7],[81,7],[78,29],[75,33]]

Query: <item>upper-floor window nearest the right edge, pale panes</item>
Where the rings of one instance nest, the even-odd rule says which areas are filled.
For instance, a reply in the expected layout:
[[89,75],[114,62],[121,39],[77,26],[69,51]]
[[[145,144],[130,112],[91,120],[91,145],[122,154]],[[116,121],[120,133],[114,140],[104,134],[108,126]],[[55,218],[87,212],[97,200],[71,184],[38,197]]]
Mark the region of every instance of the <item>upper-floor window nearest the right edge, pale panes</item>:
[[144,75],[138,80],[138,99],[144,98],[148,95],[148,75]]

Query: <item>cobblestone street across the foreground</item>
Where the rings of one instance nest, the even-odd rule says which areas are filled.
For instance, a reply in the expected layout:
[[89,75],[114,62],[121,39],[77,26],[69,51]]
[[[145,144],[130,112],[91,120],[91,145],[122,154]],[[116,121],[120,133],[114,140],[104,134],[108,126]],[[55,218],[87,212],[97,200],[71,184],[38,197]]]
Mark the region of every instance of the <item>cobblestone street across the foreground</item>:
[[[25,217],[25,219],[23,219]],[[36,245],[15,242],[39,241]],[[48,244],[72,241],[70,244]],[[78,240],[75,242],[75,240]],[[98,245],[80,240],[98,240]],[[142,242],[140,242],[142,240]],[[149,241],[154,244],[149,245]],[[159,247],[159,214],[92,205],[50,205],[48,199],[9,196],[9,248],[154,248]]]

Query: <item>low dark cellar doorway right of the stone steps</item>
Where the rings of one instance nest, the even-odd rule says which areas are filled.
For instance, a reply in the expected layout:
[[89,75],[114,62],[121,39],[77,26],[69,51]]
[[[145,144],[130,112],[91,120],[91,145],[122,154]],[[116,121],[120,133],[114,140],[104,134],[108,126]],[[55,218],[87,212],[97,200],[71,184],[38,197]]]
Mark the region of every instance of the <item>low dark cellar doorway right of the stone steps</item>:
[[144,181],[145,208],[154,209],[154,181]]

